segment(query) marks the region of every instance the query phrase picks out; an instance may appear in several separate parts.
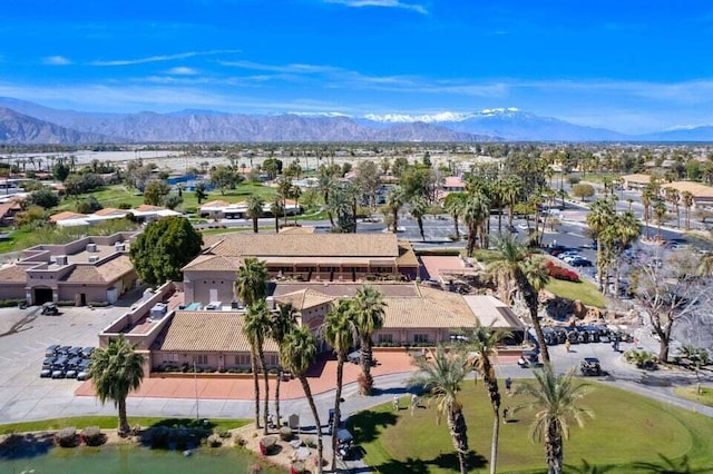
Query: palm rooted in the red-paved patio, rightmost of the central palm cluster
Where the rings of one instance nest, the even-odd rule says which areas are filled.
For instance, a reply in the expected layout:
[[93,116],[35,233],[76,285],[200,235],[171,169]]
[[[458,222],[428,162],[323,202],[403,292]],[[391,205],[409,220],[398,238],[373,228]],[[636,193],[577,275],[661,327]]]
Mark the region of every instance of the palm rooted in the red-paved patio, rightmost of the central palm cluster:
[[371,376],[371,336],[383,326],[387,304],[383,294],[372,286],[363,286],[354,297],[354,325],[361,344],[362,395],[370,395],[374,379]]

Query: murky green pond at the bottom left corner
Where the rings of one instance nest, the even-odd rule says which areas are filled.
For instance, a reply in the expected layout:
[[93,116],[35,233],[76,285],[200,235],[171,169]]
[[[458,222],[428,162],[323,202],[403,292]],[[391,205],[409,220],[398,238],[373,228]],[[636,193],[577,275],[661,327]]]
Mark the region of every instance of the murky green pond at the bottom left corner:
[[[252,473],[256,460],[246,451],[231,447],[194,450],[191,456],[180,451],[150,450],[135,445],[75,448],[52,447],[14,458],[0,457],[2,473],[67,474],[179,474]],[[282,473],[265,467],[261,473]]]

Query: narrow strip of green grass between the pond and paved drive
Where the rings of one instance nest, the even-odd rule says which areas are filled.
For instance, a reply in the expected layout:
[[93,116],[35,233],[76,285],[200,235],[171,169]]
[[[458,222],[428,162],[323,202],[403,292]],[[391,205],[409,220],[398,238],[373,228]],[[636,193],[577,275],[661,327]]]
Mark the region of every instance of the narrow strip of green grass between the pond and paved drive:
[[[163,425],[163,426],[192,426],[196,421],[194,418],[163,418],[155,416],[129,416],[129,425],[137,424],[143,427]],[[211,419],[211,427],[223,427],[226,429],[240,428],[250,423],[250,419]],[[0,425],[0,434],[25,433],[25,432],[42,432],[55,431],[68,426],[77,429],[87,426],[99,426],[104,429],[116,428],[118,424],[116,416],[75,416],[68,418],[42,419],[38,422],[23,422]]]

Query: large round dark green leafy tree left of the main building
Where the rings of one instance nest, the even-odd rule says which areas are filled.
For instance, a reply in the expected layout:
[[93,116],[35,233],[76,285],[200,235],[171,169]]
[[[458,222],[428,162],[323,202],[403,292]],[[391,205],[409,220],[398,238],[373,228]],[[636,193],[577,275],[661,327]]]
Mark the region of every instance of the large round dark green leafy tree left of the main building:
[[158,285],[183,280],[180,269],[202,247],[203,237],[188,219],[172,216],[149,223],[131,244],[129,256],[141,280]]

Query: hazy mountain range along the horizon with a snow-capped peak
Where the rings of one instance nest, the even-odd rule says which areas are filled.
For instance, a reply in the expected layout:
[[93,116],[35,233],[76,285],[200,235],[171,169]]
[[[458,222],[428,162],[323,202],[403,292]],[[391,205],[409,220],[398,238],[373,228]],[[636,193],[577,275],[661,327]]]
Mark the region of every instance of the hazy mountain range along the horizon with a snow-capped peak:
[[432,116],[98,113],[0,98],[0,144],[314,141],[713,141],[713,127],[631,136],[515,108]]

